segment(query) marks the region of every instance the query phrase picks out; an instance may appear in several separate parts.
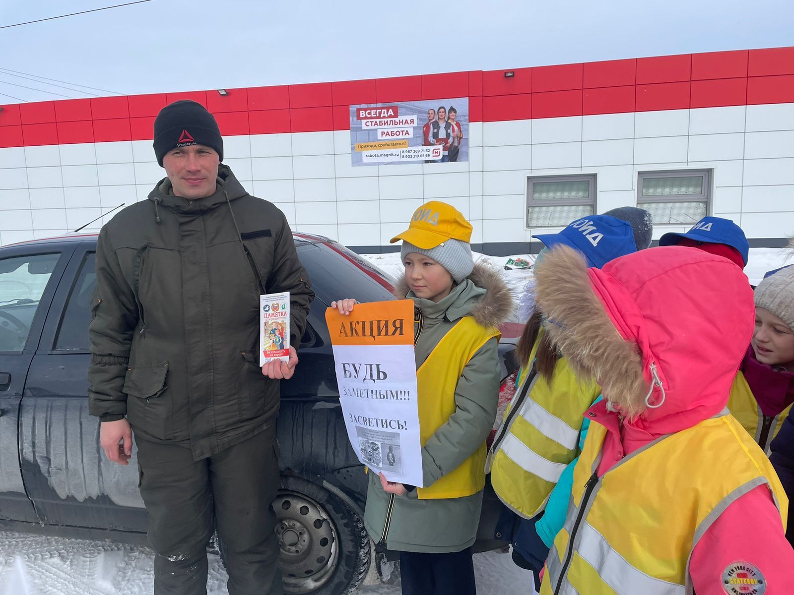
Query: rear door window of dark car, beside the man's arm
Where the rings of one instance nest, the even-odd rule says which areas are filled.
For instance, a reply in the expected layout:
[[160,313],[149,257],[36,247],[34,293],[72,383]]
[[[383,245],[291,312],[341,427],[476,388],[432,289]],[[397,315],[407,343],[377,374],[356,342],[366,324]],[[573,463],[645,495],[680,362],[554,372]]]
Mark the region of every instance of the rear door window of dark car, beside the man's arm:
[[91,294],[97,286],[96,254],[83,257],[80,270],[71,286],[64,308],[64,317],[55,339],[56,350],[88,351],[88,323],[91,322]]

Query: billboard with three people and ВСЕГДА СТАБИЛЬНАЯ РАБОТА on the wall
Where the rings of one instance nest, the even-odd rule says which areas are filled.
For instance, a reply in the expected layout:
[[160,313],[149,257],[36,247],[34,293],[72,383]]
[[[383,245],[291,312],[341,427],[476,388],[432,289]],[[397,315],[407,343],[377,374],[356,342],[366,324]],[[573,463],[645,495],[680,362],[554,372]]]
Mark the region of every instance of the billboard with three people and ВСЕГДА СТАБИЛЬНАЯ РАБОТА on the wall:
[[468,98],[350,106],[353,165],[468,161]]

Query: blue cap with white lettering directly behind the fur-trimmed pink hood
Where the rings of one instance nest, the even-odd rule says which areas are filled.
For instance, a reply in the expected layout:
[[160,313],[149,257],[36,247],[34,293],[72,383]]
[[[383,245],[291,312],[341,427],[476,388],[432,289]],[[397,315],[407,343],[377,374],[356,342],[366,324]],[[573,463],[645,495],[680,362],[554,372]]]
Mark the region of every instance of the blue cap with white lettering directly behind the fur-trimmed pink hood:
[[588,261],[588,267],[601,268],[610,260],[637,251],[634,229],[631,225],[610,215],[591,215],[569,223],[559,233],[543,233],[533,236],[541,240],[546,248],[565,244],[580,251]]

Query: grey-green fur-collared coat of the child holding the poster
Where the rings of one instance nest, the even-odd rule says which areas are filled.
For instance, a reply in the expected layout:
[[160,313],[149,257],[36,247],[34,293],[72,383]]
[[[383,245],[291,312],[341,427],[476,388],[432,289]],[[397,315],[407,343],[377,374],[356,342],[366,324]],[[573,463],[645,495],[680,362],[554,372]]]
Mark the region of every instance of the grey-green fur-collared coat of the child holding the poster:
[[[413,298],[422,313],[422,332],[415,349],[417,368],[462,317],[473,316],[483,326],[495,327],[507,321],[513,307],[510,290],[499,273],[480,264],[441,301],[416,298],[404,281],[395,294]],[[455,470],[491,432],[501,379],[498,345],[498,338],[488,340],[469,360],[465,378],[461,377],[455,390],[455,413],[422,449],[425,486]],[[368,476],[364,526],[375,543],[385,542],[392,551],[436,553],[461,551],[474,543],[482,491],[461,498],[419,500],[414,489],[394,497],[389,515],[390,494],[381,488],[377,474],[370,472]]]

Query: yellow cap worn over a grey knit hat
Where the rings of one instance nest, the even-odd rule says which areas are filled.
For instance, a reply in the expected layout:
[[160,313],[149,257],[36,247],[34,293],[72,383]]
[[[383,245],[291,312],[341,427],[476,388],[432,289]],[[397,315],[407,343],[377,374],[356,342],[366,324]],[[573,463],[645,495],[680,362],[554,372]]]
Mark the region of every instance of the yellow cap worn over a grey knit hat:
[[430,201],[414,211],[407,230],[394,236],[389,244],[405,240],[422,250],[435,248],[445,240],[472,240],[472,224],[459,210],[445,202]]

